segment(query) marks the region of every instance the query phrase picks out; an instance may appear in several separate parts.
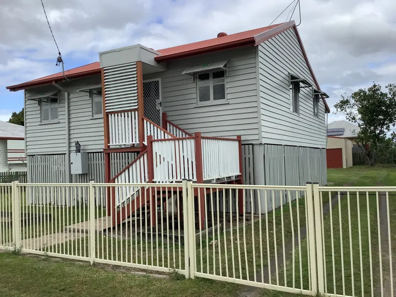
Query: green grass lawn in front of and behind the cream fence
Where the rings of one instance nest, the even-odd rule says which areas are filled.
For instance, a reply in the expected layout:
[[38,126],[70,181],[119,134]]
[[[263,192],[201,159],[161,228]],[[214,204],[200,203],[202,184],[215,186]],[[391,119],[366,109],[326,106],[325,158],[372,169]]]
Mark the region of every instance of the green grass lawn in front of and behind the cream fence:
[[[328,182],[329,186],[396,186],[396,167],[366,167],[366,166],[355,166],[347,169],[329,169],[328,170]],[[370,193],[372,194],[372,193]],[[390,193],[394,194],[394,193]],[[334,193],[333,193],[334,195]],[[326,204],[329,201],[327,193],[324,193],[322,204]],[[396,196],[390,196],[390,213],[391,216],[396,213]],[[357,201],[359,201],[359,210]],[[348,202],[350,205],[350,213],[348,213]],[[379,290],[379,253],[378,253],[378,223],[377,223],[377,203],[375,196],[369,196],[369,210],[370,216],[367,215],[367,198],[365,193],[359,193],[359,200],[356,194],[351,193],[349,201],[347,196],[341,198],[341,204],[336,204],[332,209],[332,219],[330,213],[324,217],[324,247],[325,247],[325,259],[326,259],[326,283],[327,292],[333,293],[334,284],[336,286],[337,294],[342,295],[345,290],[346,295],[352,294],[352,269],[353,268],[353,284],[355,296],[361,296],[361,276],[363,276],[363,290],[365,296],[371,295],[371,290],[374,291],[374,296],[377,296]],[[303,199],[299,199],[299,222],[301,227],[305,226],[305,205]],[[341,212],[340,212],[341,209]],[[360,213],[360,216],[358,216]],[[282,224],[281,218],[283,215],[283,229],[284,236],[282,236]],[[341,234],[340,234],[340,216],[342,226],[342,239],[343,246],[341,248]],[[358,217],[360,218],[360,233],[358,228]],[[216,220],[217,218],[215,218]],[[292,221],[293,219],[293,228]],[[350,234],[349,234],[349,220],[350,220]],[[242,227],[239,228],[239,235],[237,229],[233,230],[233,236],[231,240],[231,231],[226,231],[220,236],[208,237],[206,240],[205,235],[202,235],[202,247],[200,241],[197,241],[197,266],[198,271],[206,272],[207,263],[209,264],[209,273],[216,271],[216,274],[220,273],[220,267],[222,274],[226,275],[227,269],[225,267],[226,259],[228,263],[228,274],[233,276],[232,269],[232,255],[231,255],[231,243],[234,245],[234,259],[238,259],[238,253],[241,253],[242,266],[239,266],[239,262],[235,263],[235,275],[236,278],[242,276],[243,279],[249,277],[250,280],[254,278],[254,271],[257,275],[261,272],[261,267],[258,264],[260,262],[261,254],[260,247],[263,249],[263,262],[267,264],[268,255],[270,260],[275,257],[275,243],[277,245],[278,254],[282,253],[283,242],[289,243],[292,239],[293,231],[297,232],[297,203],[292,202],[292,216],[290,216],[290,206],[286,204],[282,210],[278,208],[275,210],[275,221],[273,220],[273,213],[270,212],[268,215],[268,228],[269,228],[269,254],[267,255],[267,240],[265,233],[266,220],[265,217],[261,219],[262,237],[259,237],[259,221],[254,221],[253,233],[252,226],[247,225],[245,234]],[[275,222],[275,232],[273,232]],[[368,226],[371,227],[371,259],[369,252],[369,233]],[[331,228],[333,228],[333,235],[331,237]],[[391,220],[391,230],[395,230],[396,222]],[[217,231],[217,230],[216,230]],[[217,233],[217,232],[216,232]],[[254,235],[254,240],[253,236]],[[395,259],[396,256],[396,232],[392,232],[392,256]],[[224,238],[226,241],[224,242]],[[360,262],[359,252],[359,238],[361,242],[362,251],[362,262]],[[103,248],[106,247],[106,241],[109,241],[108,237],[97,236],[96,240],[99,243],[99,255],[101,257],[102,243]],[[211,241],[217,241],[217,245],[213,248],[213,245],[207,245]],[[121,254],[125,261],[128,254],[128,261],[130,261],[130,241],[128,242],[128,248],[126,247],[125,240],[118,240],[117,247],[109,249],[115,254],[118,251],[119,259]],[[133,248],[135,243],[138,243],[140,247],[139,239],[133,241]],[[79,250],[79,241],[72,243],[75,250]],[[163,243],[158,242],[161,246]],[[352,246],[352,253],[350,252],[350,244]],[[109,244],[109,248],[110,248]],[[227,246],[227,257],[225,255],[225,246]],[[76,248],[78,247],[78,248]],[[88,245],[87,245],[88,247]],[[138,256],[138,262],[151,264],[151,254],[153,255],[154,265],[156,264],[156,257],[158,256],[159,264],[162,266],[162,260],[165,266],[168,265],[168,261],[171,266],[173,265],[178,268],[179,263],[182,268],[184,266],[184,247],[180,248],[176,244],[173,247],[172,244],[164,244],[164,256],[162,258],[161,249],[157,253],[155,250],[150,251],[150,244],[144,243],[142,246],[143,253],[138,249],[133,249],[132,255],[136,259]],[[146,251],[147,247],[147,251]],[[167,255],[167,248],[170,250],[170,257]],[[254,252],[253,252],[254,247]],[[63,246],[61,246],[63,249]],[[121,252],[122,248],[122,252]],[[333,257],[331,256],[332,249],[334,250],[334,271],[333,271]],[[84,250],[84,247],[83,247]],[[175,260],[173,260],[173,250],[175,250]],[[107,250],[103,251],[103,255],[106,254]],[[202,265],[200,263],[200,253],[202,252]],[[301,252],[301,263],[302,263],[302,275],[300,276],[299,270],[299,253]],[[245,256],[245,253],[247,256]],[[341,253],[344,256],[344,266],[341,264]],[[352,254],[352,260],[350,258]],[[292,261],[292,254],[286,254],[286,271],[280,267],[278,272],[278,280],[272,272],[272,283],[279,282],[280,285],[284,285],[284,278],[286,275],[288,287],[293,286],[292,279],[295,275],[296,288],[300,288],[300,281],[302,281],[303,288],[306,289],[309,284],[308,280],[308,258],[307,258],[307,245],[306,240],[301,240],[301,246],[295,250],[295,262]],[[221,261],[219,262],[219,258]],[[208,262],[206,262],[208,260]],[[54,260],[51,258],[32,258],[26,256],[15,256],[8,253],[0,254],[1,269],[0,278],[3,280],[2,287],[0,288],[0,296],[131,296],[131,295],[142,295],[142,296],[241,296],[241,292],[244,292],[242,286],[226,283],[226,282],[215,282],[204,279],[196,280],[180,280],[174,279],[157,279],[148,276],[135,276],[129,273],[112,272],[104,269],[103,267],[91,267],[89,264],[84,263],[76,265],[69,261]],[[134,261],[135,262],[135,261]],[[222,264],[221,266],[219,264]],[[373,270],[373,288],[370,283],[370,263],[372,263]],[[386,274],[387,267],[383,262],[383,272]],[[214,267],[213,267],[214,264]],[[254,266],[255,264],[255,266]],[[294,264],[294,265],[293,265]],[[254,269],[255,267],[255,269]],[[363,269],[361,269],[361,267]],[[38,273],[40,271],[40,273]],[[344,276],[343,276],[344,275]],[[395,274],[394,274],[395,275]],[[343,288],[343,278],[345,279]],[[11,281],[12,279],[12,281]],[[59,282],[58,279],[67,281]],[[333,280],[334,279],[334,280]],[[26,286],[24,281],[26,280]],[[43,281],[45,280],[45,281]],[[88,281],[89,280],[89,281]],[[335,281],[335,282],[334,282]],[[75,284],[78,284],[76,286]],[[29,286],[29,287],[28,287]],[[30,286],[32,290],[30,290]],[[57,288],[59,287],[59,288]],[[25,291],[29,288],[30,293]],[[71,289],[70,289],[71,288]],[[24,295],[25,294],[25,295]],[[107,295],[106,295],[107,294]],[[242,296],[248,296],[247,294]],[[261,297],[295,297],[294,294],[286,294],[281,292],[273,292],[269,290],[257,289],[255,296]]]

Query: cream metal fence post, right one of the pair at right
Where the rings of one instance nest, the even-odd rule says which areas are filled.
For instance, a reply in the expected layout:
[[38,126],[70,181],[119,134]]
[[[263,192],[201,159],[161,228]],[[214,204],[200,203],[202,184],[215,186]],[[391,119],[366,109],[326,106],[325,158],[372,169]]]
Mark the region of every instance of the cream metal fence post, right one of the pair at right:
[[[325,293],[324,283],[324,265],[323,265],[323,234],[322,234],[322,213],[320,207],[320,193],[319,183],[315,182],[313,187],[313,206],[315,213],[315,239],[316,239],[316,256],[317,256],[317,270],[318,270],[318,293]],[[330,206],[331,207],[331,206]]]

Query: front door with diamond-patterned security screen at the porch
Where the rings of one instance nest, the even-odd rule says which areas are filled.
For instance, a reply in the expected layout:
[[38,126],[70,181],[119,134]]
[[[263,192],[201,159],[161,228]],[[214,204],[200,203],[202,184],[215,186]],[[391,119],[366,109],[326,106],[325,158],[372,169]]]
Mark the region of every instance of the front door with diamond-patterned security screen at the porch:
[[161,79],[143,81],[144,115],[161,126]]

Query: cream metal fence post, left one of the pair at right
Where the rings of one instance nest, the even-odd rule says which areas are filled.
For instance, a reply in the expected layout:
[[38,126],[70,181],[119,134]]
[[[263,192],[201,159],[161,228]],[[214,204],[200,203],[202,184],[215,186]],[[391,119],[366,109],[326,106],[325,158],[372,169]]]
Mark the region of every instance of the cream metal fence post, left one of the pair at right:
[[313,187],[311,182],[306,183],[306,205],[307,205],[307,218],[308,218],[308,233],[307,240],[309,243],[309,260],[311,271],[311,291],[315,296],[318,292],[317,288],[317,267],[316,267],[316,247],[315,247],[315,216],[313,208]]

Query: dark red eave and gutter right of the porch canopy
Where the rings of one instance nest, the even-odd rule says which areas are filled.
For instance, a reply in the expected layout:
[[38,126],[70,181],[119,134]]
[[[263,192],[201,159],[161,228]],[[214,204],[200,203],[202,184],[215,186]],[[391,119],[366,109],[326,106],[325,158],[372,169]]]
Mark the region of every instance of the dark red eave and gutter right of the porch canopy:
[[214,52],[218,52],[218,51],[222,51],[222,50],[237,49],[237,48],[243,48],[243,47],[254,46],[254,45],[255,45],[254,37],[248,37],[248,38],[245,38],[242,40],[236,40],[236,41],[232,41],[229,43],[215,45],[215,46],[206,47],[206,48],[202,48],[202,49],[193,49],[193,50],[183,51],[183,52],[178,52],[178,53],[173,53],[173,54],[159,55],[159,56],[156,56],[154,58],[154,60],[157,61],[158,63],[160,63],[160,62],[166,62],[166,61],[174,60],[174,59],[193,57],[193,56],[198,56],[198,55],[202,55],[202,54],[214,53]]

